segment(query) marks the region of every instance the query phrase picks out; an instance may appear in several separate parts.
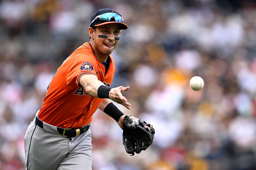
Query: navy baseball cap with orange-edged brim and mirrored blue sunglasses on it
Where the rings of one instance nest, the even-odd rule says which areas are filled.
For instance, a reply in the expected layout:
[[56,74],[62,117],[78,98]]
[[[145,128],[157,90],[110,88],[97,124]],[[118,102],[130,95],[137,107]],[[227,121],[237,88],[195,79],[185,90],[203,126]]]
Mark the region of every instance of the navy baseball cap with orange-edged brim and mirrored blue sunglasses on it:
[[89,27],[101,26],[105,24],[118,23],[122,30],[128,28],[126,24],[124,24],[123,17],[113,9],[99,9],[97,10],[91,18],[91,23]]

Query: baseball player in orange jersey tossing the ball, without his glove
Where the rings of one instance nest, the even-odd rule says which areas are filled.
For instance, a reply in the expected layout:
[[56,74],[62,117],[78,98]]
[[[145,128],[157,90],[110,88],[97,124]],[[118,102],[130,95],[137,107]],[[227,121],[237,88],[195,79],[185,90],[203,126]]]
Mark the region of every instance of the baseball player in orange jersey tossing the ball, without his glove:
[[[110,55],[127,29],[115,10],[96,11],[88,28],[90,41],[77,48],[58,68],[42,108],[28,126],[24,142],[30,170],[91,170],[93,113],[99,108],[123,128],[124,114],[111,100],[131,109],[122,95],[129,86],[110,88],[115,63]],[[111,99],[111,100],[110,100]]]

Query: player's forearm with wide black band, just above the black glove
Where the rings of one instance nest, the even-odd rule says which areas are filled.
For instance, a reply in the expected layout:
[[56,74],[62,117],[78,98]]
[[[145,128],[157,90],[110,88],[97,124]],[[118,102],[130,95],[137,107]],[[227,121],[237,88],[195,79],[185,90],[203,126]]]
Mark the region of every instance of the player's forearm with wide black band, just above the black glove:
[[99,109],[116,120],[121,129],[123,129],[124,114],[112,103],[110,99],[103,99]]

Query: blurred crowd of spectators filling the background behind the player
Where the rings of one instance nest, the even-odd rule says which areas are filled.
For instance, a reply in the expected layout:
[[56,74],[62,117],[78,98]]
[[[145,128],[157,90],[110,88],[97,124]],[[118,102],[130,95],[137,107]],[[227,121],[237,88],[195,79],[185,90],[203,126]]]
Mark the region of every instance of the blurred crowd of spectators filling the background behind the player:
[[[93,170],[256,169],[256,2],[253,0],[0,0],[0,170],[24,169],[24,135],[60,64],[89,41],[99,8],[129,26],[112,53],[125,114],[156,129],[129,156],[122,130],[96,111]],[[200,76],[204,89],[189,79]]]

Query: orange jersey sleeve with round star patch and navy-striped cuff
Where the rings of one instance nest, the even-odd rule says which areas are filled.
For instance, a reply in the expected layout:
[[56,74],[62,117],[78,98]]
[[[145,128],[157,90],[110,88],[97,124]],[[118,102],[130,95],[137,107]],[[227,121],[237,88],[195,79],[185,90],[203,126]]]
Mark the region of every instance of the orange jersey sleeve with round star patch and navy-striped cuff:
[[79,55],[77,56],[73,63],[71,64],[68,75],[67,84],[69,87],[81,86],[79,84],[79,79],[85,74],[92,74],[97,76],[96,69],[97,62],[90,55]]

